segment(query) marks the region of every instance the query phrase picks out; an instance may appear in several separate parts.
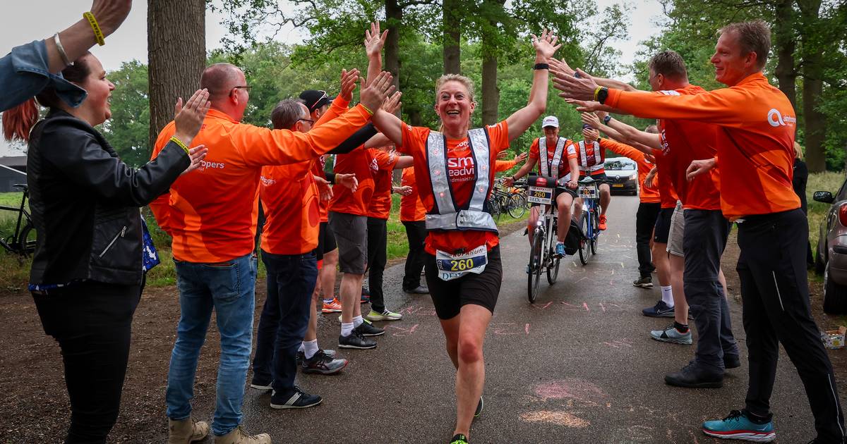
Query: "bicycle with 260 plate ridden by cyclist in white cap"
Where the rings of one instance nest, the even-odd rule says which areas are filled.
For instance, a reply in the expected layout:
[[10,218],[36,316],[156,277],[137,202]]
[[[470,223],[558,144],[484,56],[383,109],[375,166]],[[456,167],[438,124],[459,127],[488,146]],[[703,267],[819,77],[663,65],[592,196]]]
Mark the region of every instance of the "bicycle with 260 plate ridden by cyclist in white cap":
[[557,213],[553,211],[556,181],[550,177],[531,176],[523,186],[528,188],[529,202],[539,204],[541,208],[539,219],[533,227],[533,241],[527,266],[527,295],[529,303],[534,304],[535,299],[538,299],[541,273],[546,271],[547,282],[553,285],[559,275],[559,262],[562,260],[561,256],[556,255]]

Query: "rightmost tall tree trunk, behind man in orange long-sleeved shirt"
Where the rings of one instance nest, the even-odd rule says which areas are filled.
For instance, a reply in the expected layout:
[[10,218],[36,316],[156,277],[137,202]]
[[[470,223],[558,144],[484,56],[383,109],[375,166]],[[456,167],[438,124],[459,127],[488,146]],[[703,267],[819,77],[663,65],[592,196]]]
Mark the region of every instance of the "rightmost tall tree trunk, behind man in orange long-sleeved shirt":
[[822,50],[818,32],[822,26],[819,17],[821,0],[802,0],[800,6],[801,55],[803,57],[803,134],[805,135],[805,163],[810,173],[820,173],[827,167],[823,139],[826,135],[826,120],[817,110],[823,89]]

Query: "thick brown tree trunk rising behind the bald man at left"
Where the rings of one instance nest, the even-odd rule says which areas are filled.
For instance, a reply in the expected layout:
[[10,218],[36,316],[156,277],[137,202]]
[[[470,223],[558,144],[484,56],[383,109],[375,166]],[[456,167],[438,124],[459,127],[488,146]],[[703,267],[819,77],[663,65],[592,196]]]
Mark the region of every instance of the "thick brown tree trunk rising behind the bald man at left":
[[177,97],[188,100],[206,66],[206,0],[147,0],[150,150],[174,119]]

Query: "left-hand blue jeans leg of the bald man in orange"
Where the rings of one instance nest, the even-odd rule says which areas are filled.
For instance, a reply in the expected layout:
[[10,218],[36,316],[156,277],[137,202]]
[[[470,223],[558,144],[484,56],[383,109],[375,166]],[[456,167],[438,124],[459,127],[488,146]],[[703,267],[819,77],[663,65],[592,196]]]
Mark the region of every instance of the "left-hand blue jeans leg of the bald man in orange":
[[176,326],[176,343],[170,355],[168,388],[165,401],[168,418],[191,417],[191,398],[200,348],[206,342],[206,331],[212,318],[212,293],[202,274],[203,265],[176,261],[176,282],[180,290],[180,322]]

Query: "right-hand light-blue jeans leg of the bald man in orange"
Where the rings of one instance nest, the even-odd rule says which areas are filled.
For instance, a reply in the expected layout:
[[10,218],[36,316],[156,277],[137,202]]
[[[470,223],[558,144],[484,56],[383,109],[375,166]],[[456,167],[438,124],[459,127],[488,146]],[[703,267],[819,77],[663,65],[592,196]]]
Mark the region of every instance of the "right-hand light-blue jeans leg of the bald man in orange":
[[204,266],[203,277],[212,293],[218,331],[220,362],[212,431],[223,436],[241,424],[244,383],[250,366],[256,260],[244,255],[227,266]]

